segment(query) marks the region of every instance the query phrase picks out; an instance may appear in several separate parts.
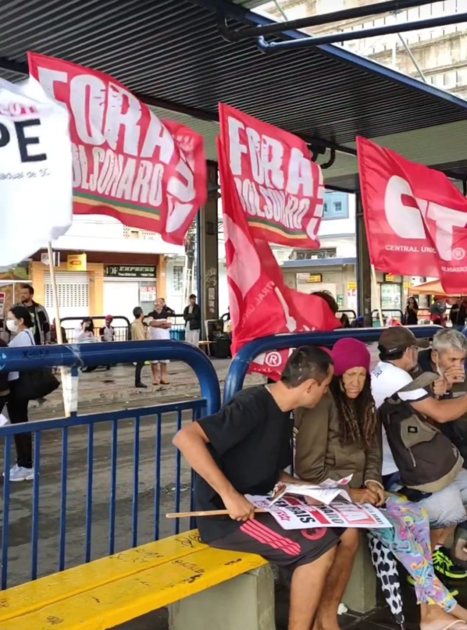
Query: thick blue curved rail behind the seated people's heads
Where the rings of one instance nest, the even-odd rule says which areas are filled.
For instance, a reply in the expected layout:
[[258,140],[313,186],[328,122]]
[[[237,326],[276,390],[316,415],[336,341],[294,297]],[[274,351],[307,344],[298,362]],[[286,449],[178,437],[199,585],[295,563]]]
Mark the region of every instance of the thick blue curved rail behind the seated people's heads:
[[[417,338],[431,338],[440,326],[408,326]],[[287,350],[303,345],[332,347],[342,337],[353,337],[371,343],[378,341],[381,329],[378,328],[343,328],[326,333],[295,333],[293,335],[271,335],[247,343],[230,364],[224,384],[224,404],[243,387],[246,372],[255,357],[274,350]]]

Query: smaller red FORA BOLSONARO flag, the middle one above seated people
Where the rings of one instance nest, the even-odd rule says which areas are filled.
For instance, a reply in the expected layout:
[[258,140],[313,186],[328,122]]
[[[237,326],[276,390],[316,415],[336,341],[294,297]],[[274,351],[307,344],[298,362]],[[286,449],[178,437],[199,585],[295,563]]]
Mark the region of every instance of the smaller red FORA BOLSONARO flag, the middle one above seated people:
[[317,249],[325,187],[304,140],[229,105],[219,105],[220,150],[232,197],[255,239]]

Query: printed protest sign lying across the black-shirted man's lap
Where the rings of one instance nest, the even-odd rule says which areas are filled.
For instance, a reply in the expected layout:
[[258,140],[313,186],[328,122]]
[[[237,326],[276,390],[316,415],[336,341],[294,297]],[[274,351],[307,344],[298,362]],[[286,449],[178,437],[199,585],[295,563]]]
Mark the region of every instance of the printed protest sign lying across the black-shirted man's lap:
[[308,505],[296,496],[282,496],[271,505],[269,496],[246,495],[255,508],[265,510],[283,529],[314,529],[320,527],[352,527],[383,529],[392,527],[378,508],[369,504],[355,505],[333,501],[331,505]]

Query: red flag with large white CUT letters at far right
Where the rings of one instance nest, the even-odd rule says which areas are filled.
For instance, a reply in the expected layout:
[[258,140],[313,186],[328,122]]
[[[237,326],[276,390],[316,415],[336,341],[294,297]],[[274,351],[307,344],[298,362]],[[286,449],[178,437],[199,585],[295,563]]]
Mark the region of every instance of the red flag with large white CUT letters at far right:
[[467,292],[467,199],[443,173],[357,138],[370,259],[376,269],[440,278]]

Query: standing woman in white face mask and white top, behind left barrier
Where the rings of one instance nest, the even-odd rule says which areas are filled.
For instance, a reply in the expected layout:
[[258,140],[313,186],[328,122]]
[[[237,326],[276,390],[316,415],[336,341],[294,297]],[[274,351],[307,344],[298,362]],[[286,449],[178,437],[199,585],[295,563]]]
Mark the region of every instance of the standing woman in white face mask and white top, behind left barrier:
[[[13,306],[8,312],[6,327],[11,333],[16,333],[9,342],[10,348],[23,348],[35,345],[30,312],[24,306]],[[12,425],[28,421],[29,401],[20,395],[20,372],[10,372],[8,375],[9,398],[7,403],[8,415]],[[32,436],[31,433],[17,433],[14,436],[16,446],[16,464],[9,471],[10,481],[29,481],[34,478],[32,467]]]

